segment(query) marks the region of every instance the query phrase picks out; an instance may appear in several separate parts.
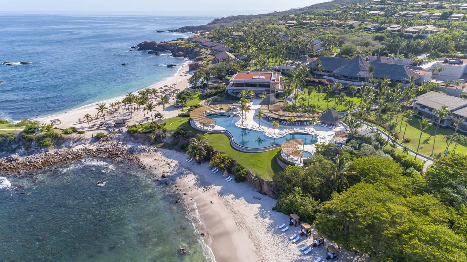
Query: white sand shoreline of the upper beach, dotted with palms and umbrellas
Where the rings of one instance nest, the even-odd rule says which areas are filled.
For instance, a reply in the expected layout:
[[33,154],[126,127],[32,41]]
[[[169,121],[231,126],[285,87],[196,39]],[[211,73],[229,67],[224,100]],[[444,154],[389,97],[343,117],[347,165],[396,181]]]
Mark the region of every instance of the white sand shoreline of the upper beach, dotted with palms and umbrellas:
[[[139,90],[137,90],[135,92],[132,92],[132,94],[137,94],[138,91],[144,90],[145,88],[163,87],[164,85],[171,86],[172,83],[176,83],[177,84],[176,88],[180,89],[180,91],[184,90],[185,88],[188,87],[188,79],[193,74],[192,71],[190,71],[190,68],[189,68],[189,64],[192,63],[192,62],[193,62],[193,60],[188,60],[188,59],[185,58],[184,63],[182,64],[182,67],[178,68],[177,72],[173,76],[165,78],[165,79],[163,79],[161,81],[158,81],[158,82],[156,82],[156,83],[154,83],[154,84],[152,84],[152,85],[150,85],[148,87],[143,87],[143,88],[141,88],[141,89],[139,89]],[[93,122],[99,122],[99,121],[101,121],[100,120],[101,116],[99,116],[100,117],[99,119],[95,119],[95,117],[94,117],[95,113],[97,112],[97,110],[94,109],[96,104],[97,103],[107,103],[107,107],[109,107],[108,102],[121,101],[124,97],[125,97],[125,95],[120,95],[120,96],[117,96],[115,98],[106,99],[106,100],[98,101],[98,102],[88,104],[88,105],[85,105],[85,106],[77,107],[77,108],[74,108],[72,110],[69,110],[69,111],[66,111],[66,112],[63,112],[63,113],[57,113],[57,114],[53,114],[53,115],[45,116],[45,117],[37,117],[37,118],[34,118],[34,120],[37,120],[37,121],[40,121],[40,122],[45,121],[45,123],[48,124],[48,121],[50,121],[51,119],[60,119],[61,124],[55,125],[54,127],[68,128],[68,127],[74,126],[78,130],[84,130],[84,129],[88,128],[87,122],[78,123],[78,118],[82,118],[85,114],[91,114],[93,116],[93,119],[92,119],[92,121],[90,121],[90,123],[92,124]],[[169,110],[169,107],[171,106],[173,101],[170,100],[169,103],[170,104],[166,105],[167,109],[165,110],[164,118],[169,118],[169,117],[172,117],[172,116],[176,115],[176,114],[173,114],[173,113],[174,113],[174,111],[177,111],[177,110]],[[123,108],[120,108],[120,109],[123,109]],[[155,105],[155,109],[157,111],[161,112],[161,113],[163,112],[163,107],[160,106],[160,105]],[[119,114],[117,117],[122,118],[127,114],[127,113],[125,113],[125,109],[123,109],[122,111],[123,111],[123,112],[121,112],[122,114]],[[172,114],[167,114],[167,113],[172,113]],[[106,120],[110,119],[110,118],[107,118],[107,117],[113,117],[113,115],[111,113],[107,114],[106,115]],[[142,121],[143,118],[144,118],[144,115],[139,114],[139,112],[138,112],[137,115],[136,115],[136,113],[134,113],[133,117],[127,116],[127,118],[129,119],[128,124],[130,124],[130,122],[131,122],[131,124],[134,124],[134,123]]]

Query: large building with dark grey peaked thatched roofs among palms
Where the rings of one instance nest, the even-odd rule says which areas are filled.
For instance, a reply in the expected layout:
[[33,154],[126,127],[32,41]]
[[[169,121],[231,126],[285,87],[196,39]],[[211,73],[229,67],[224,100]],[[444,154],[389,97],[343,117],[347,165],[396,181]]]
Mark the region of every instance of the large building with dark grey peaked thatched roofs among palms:
[[[317,61],[321,61],[323,67],[322,71],[314,70],[313,67]],[[372,75],[368,73],[370,64],[375,67],[375,71]],[[311,62],[308,67],[312,70],[312,76],[317,75],[315,81],[331,85],[339,81],[343,86],[349,84],[361,86],[362,82],[368,81],[372,77],[377,79],[384,79],[387,77],[391,81],[402,83],[403,86],[407,86],[410,84],[410,75],[415,75],[416,82],[420,79],[415,72],[405,65],[368,62],[361,55],[353,59],[320,56],[318,59]]]

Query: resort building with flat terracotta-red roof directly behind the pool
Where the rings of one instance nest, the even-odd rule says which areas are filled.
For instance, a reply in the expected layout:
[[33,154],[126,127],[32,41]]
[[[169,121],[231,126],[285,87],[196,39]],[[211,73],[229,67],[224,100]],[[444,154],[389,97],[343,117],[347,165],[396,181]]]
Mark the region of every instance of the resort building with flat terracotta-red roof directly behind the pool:
[[256,95],[282,93],[281,73],[277,72],[238,72],[230,79],[227,91],[239,95],[242,90],[253,89]]

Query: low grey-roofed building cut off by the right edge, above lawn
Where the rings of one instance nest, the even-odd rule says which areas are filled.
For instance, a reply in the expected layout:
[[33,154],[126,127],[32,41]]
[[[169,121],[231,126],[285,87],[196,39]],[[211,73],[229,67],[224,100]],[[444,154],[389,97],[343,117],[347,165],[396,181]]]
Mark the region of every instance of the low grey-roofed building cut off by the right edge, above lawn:
[[[415,100],[413,109],[417,111],[418,116],[427,118],[433,122],[438,122],[438,116],[432,111],[433,109],[439,110],[444,105],[451,111],[451,116],[464,117],[467,119],[467,100],[434,91],[419,95]],[[452,126],[453,121],[451,116],[441,119],[440,125]],[[467,123],[463,122],[459,126],[459,130],[467,132]]]

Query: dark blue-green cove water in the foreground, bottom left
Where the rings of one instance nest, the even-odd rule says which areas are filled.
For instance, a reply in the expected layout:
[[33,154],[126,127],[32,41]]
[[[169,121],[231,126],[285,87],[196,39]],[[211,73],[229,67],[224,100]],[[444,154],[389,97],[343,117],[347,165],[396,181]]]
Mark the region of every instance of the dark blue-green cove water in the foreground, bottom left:
[[174,187],[128,163],[86,159],[9,180],[0,180],[0,261],[209,260]]

